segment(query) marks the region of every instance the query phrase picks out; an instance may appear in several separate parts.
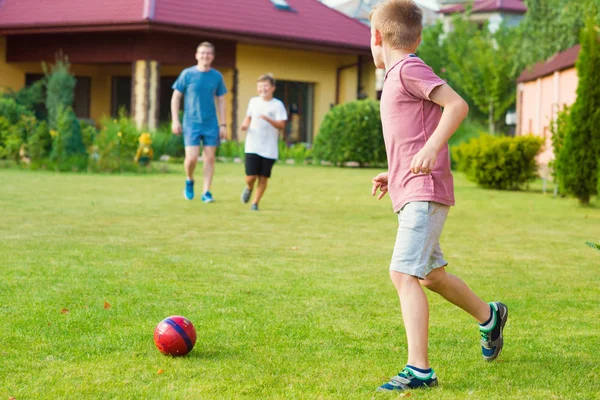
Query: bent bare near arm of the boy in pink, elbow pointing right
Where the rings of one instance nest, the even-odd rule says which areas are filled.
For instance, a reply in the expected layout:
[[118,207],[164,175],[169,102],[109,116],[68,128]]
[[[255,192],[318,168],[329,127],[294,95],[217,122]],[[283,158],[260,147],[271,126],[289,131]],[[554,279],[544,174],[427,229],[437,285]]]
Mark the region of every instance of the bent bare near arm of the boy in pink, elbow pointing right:
[[469,113],[467,102],[446,84],[433,89],[429,98],[442,106],[444,111],[437,128],[410,163],[410,169],[415,174],[431,172],[438,153]]

